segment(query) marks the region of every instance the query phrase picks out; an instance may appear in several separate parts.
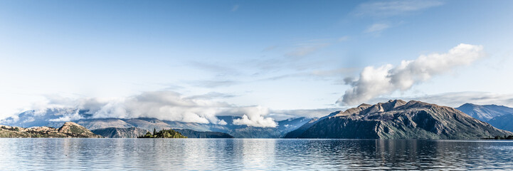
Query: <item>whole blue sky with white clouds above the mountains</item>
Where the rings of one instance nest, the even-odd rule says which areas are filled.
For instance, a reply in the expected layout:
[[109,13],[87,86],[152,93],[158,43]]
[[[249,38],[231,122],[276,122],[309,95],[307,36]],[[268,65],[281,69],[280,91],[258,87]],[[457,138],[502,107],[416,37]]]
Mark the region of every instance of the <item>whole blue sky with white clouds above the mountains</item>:
[[240,124],[272,127],[388,99],[513,107],[511,9],[513,1],[0,1],[0,118],[70,107],[199,123],[240,115]]

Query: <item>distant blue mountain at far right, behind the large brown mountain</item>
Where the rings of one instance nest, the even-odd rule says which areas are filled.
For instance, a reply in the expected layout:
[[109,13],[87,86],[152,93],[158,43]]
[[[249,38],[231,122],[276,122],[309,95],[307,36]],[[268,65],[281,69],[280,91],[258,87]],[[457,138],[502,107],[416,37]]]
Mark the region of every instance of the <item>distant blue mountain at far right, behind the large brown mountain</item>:
[[456,109],[485,122],[500,115],[513,113],[513,108],[504,105],[475,105],[465,103]]

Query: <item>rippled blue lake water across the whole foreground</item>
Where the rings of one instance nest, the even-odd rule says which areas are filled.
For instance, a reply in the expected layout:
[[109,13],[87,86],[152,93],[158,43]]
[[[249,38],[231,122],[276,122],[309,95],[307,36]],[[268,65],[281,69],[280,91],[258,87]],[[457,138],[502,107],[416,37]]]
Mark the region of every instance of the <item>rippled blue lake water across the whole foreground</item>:
[[513,141],[1,138],[0,170],[513,170]]

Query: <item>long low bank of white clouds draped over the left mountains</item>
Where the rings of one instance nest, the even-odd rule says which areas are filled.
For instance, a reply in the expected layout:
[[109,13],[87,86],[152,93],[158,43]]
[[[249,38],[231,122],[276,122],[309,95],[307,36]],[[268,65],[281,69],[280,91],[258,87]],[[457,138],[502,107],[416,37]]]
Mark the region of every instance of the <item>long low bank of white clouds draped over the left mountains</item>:
[[[51,96],[47,106],[89,110],[91,118],[157,118],[190,123],[213,123],[226,125],[216,115],[240,115],[238,125],[275,127],[273,118],[265,117],[269,111],[263,107],[236,106],[212,100],[226,98],[223,93],[184,96],[174,91],[150,91],[127,98],[102,100],[97,98],[59,98]],[[78,112],[50,121],[83,119]]]

